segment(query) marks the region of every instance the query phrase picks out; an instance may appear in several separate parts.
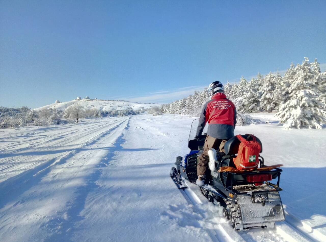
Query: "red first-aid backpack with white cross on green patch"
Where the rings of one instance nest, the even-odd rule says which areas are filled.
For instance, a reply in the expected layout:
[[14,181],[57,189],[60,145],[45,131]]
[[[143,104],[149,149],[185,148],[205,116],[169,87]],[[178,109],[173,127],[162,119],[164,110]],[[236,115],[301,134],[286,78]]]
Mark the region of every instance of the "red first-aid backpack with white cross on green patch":
[[260,143],[254,135],[247,134],[247,139],[252,137],[252,140],[247,140],[241,135],[236,136],[240,140],[237,157],[233,160],[235,167],[238,170],[255,169],[259,164],[259,153],[261,151]]

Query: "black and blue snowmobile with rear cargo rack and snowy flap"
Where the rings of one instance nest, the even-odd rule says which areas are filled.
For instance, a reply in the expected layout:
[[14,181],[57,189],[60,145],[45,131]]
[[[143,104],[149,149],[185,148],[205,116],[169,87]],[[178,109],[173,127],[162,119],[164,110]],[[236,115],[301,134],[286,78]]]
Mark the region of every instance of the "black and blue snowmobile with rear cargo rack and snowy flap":
[[[188,139],[190,153],[184,157],[176,157],[175,167],[171,168],[170,176],[179,189],[187,189],[185,181],[197,185],[197,164],[203,151],[206,134],[195,139],[197,125],[191,125]],[[197,119],[198,122],[198,119]],[[195,122],[196,123],[196,122]],[[247,135],[242,135],[246,138]],[[261,145],[261,141],[257,138]],[[223,206],[223,216],[230,220],[236,231],[252,228],[274,228],[277,221],[284,221],[284,210],[279,195],[282,169],[255,169],[235,173],[220,171],[221,167],[234,167],[233,159],[237,155],[240,141],[232,137],[225,144],[225,152],[216,151],[216,158],[210,155],[208,184],[199,186],[202,194],[214,204]],[[267,168],[264,158],[259,154],[259,168]],[[276,184],[270,181],[276,180]]]

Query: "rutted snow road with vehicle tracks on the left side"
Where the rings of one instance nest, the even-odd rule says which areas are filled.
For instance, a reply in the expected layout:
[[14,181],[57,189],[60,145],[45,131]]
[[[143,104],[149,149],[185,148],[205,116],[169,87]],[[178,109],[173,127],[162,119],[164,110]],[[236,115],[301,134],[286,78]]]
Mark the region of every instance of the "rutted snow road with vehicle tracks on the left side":
[[[81,123],[70,125],[70,129],[63,126],[63,130],[46,127],[42,135],[38,128],[35,133],[2,139],[12,142],[22,138],[0,156],[1,240],[44,240],[51,238],[51,234],[62,233],[65,228],[61,219],[78,216],[80,198],[85,195],[80,190],[87,187],[87,180],[128,119]],[[35,135],[41,136],[37,139],[39,145],[26,146],[31,143],[24,141],[35,142]]]

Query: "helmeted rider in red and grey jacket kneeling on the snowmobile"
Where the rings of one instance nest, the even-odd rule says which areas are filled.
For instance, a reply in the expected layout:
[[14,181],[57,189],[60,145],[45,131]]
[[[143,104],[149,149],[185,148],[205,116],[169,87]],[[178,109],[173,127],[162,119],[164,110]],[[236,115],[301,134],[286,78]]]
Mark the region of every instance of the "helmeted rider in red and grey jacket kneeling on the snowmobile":
[[224,152],[224,145],[227,140],[234,136],[237,112],[234,104],[226,98],[223,84],[215,81],[208,86],[210,101],[204,104],[200,113],[196,139],[202,137],[201,133],[208,122],[207,136],[204,150],[199,156],[197,165],[198,185],[206,182],[206,168],[209,162],[209,149],[216,149]]

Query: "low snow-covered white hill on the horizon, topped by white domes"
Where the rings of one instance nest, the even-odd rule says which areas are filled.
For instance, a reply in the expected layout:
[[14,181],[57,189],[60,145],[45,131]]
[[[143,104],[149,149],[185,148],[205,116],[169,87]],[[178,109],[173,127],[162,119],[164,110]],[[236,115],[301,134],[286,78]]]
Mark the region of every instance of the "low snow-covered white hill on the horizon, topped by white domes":
[[119,111],[119,110],[125,110],[126,108],[131,108],[133,110],[140,110],[143,108],[159,105],[159,104],[152,104],[152,103],[134,103],[134,102],[123,101],[123,100],[74,99],[68,102],[53,103],[43,107],[38,107],[35,108],[34,110],[39,111],[45,108],[55,108],[57,110],[63,111],[68,106],[75,103],[78,103],[84,109],[96,108],[98,110],[103,110],[103,111],[113,111],[113,110]]

